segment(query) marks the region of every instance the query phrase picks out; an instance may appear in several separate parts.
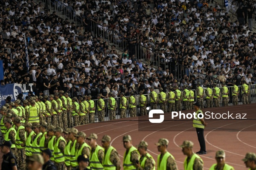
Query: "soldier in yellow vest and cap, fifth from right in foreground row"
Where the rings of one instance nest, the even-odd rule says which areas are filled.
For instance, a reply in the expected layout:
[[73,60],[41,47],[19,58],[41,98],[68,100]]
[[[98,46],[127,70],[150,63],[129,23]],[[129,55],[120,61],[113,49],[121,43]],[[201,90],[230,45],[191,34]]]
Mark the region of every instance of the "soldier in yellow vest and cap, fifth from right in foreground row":
[[137,170],[155,170],[156,162],[154,161],[154,158],[147,152],[148,143],[141,141],[136,147],[138,147],[138,151],[141,155],[140,162],[137,162],[136,164]]

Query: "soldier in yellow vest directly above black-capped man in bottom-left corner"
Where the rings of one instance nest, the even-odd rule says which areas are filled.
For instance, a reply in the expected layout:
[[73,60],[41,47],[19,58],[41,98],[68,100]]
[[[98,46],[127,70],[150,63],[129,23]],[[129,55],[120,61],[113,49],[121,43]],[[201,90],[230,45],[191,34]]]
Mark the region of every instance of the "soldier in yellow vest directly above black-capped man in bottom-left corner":
[[12,127],[12,119],[7,118],[5,123],[6,127],[6,135],[4,137],[5,141],[11,141],[12,142],[12,147],[11,147],[11,152],[16,155],[17,153],[17,148],[15,146],[16,143],[16,130]]

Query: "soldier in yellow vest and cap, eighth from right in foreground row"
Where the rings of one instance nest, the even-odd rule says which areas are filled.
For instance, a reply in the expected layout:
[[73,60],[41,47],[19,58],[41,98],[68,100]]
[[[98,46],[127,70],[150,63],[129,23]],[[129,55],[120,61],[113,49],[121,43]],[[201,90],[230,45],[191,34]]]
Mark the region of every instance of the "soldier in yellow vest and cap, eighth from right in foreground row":
[[95,133],[91,133],[87,137],[88,144],[91,147],[90,153],[90,168],[91,170],[103,170],[104,161],[104,148],[97,144],[98,136]]

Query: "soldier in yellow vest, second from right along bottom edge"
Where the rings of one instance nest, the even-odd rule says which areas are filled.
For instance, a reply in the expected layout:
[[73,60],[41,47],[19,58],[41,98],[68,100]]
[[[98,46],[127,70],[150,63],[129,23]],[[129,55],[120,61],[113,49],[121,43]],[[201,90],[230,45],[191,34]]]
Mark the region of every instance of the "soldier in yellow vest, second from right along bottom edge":
[[215,154],[217,164],[213,164],[209,170],[234,170],[234,167],[225,163],[225,157],[224,150],[218,150]]

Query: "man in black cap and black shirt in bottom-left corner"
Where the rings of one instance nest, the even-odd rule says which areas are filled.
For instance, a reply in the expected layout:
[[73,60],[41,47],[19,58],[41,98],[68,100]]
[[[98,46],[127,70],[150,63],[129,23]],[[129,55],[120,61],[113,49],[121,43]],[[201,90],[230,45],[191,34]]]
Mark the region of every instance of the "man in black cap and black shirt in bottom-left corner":
[[1,152],[3,153],[3,163],[2,163],[2,170],[17,170],[17,160],[15,156],[12,154],[11,146],[12,142],[5,141],[1,146]]

